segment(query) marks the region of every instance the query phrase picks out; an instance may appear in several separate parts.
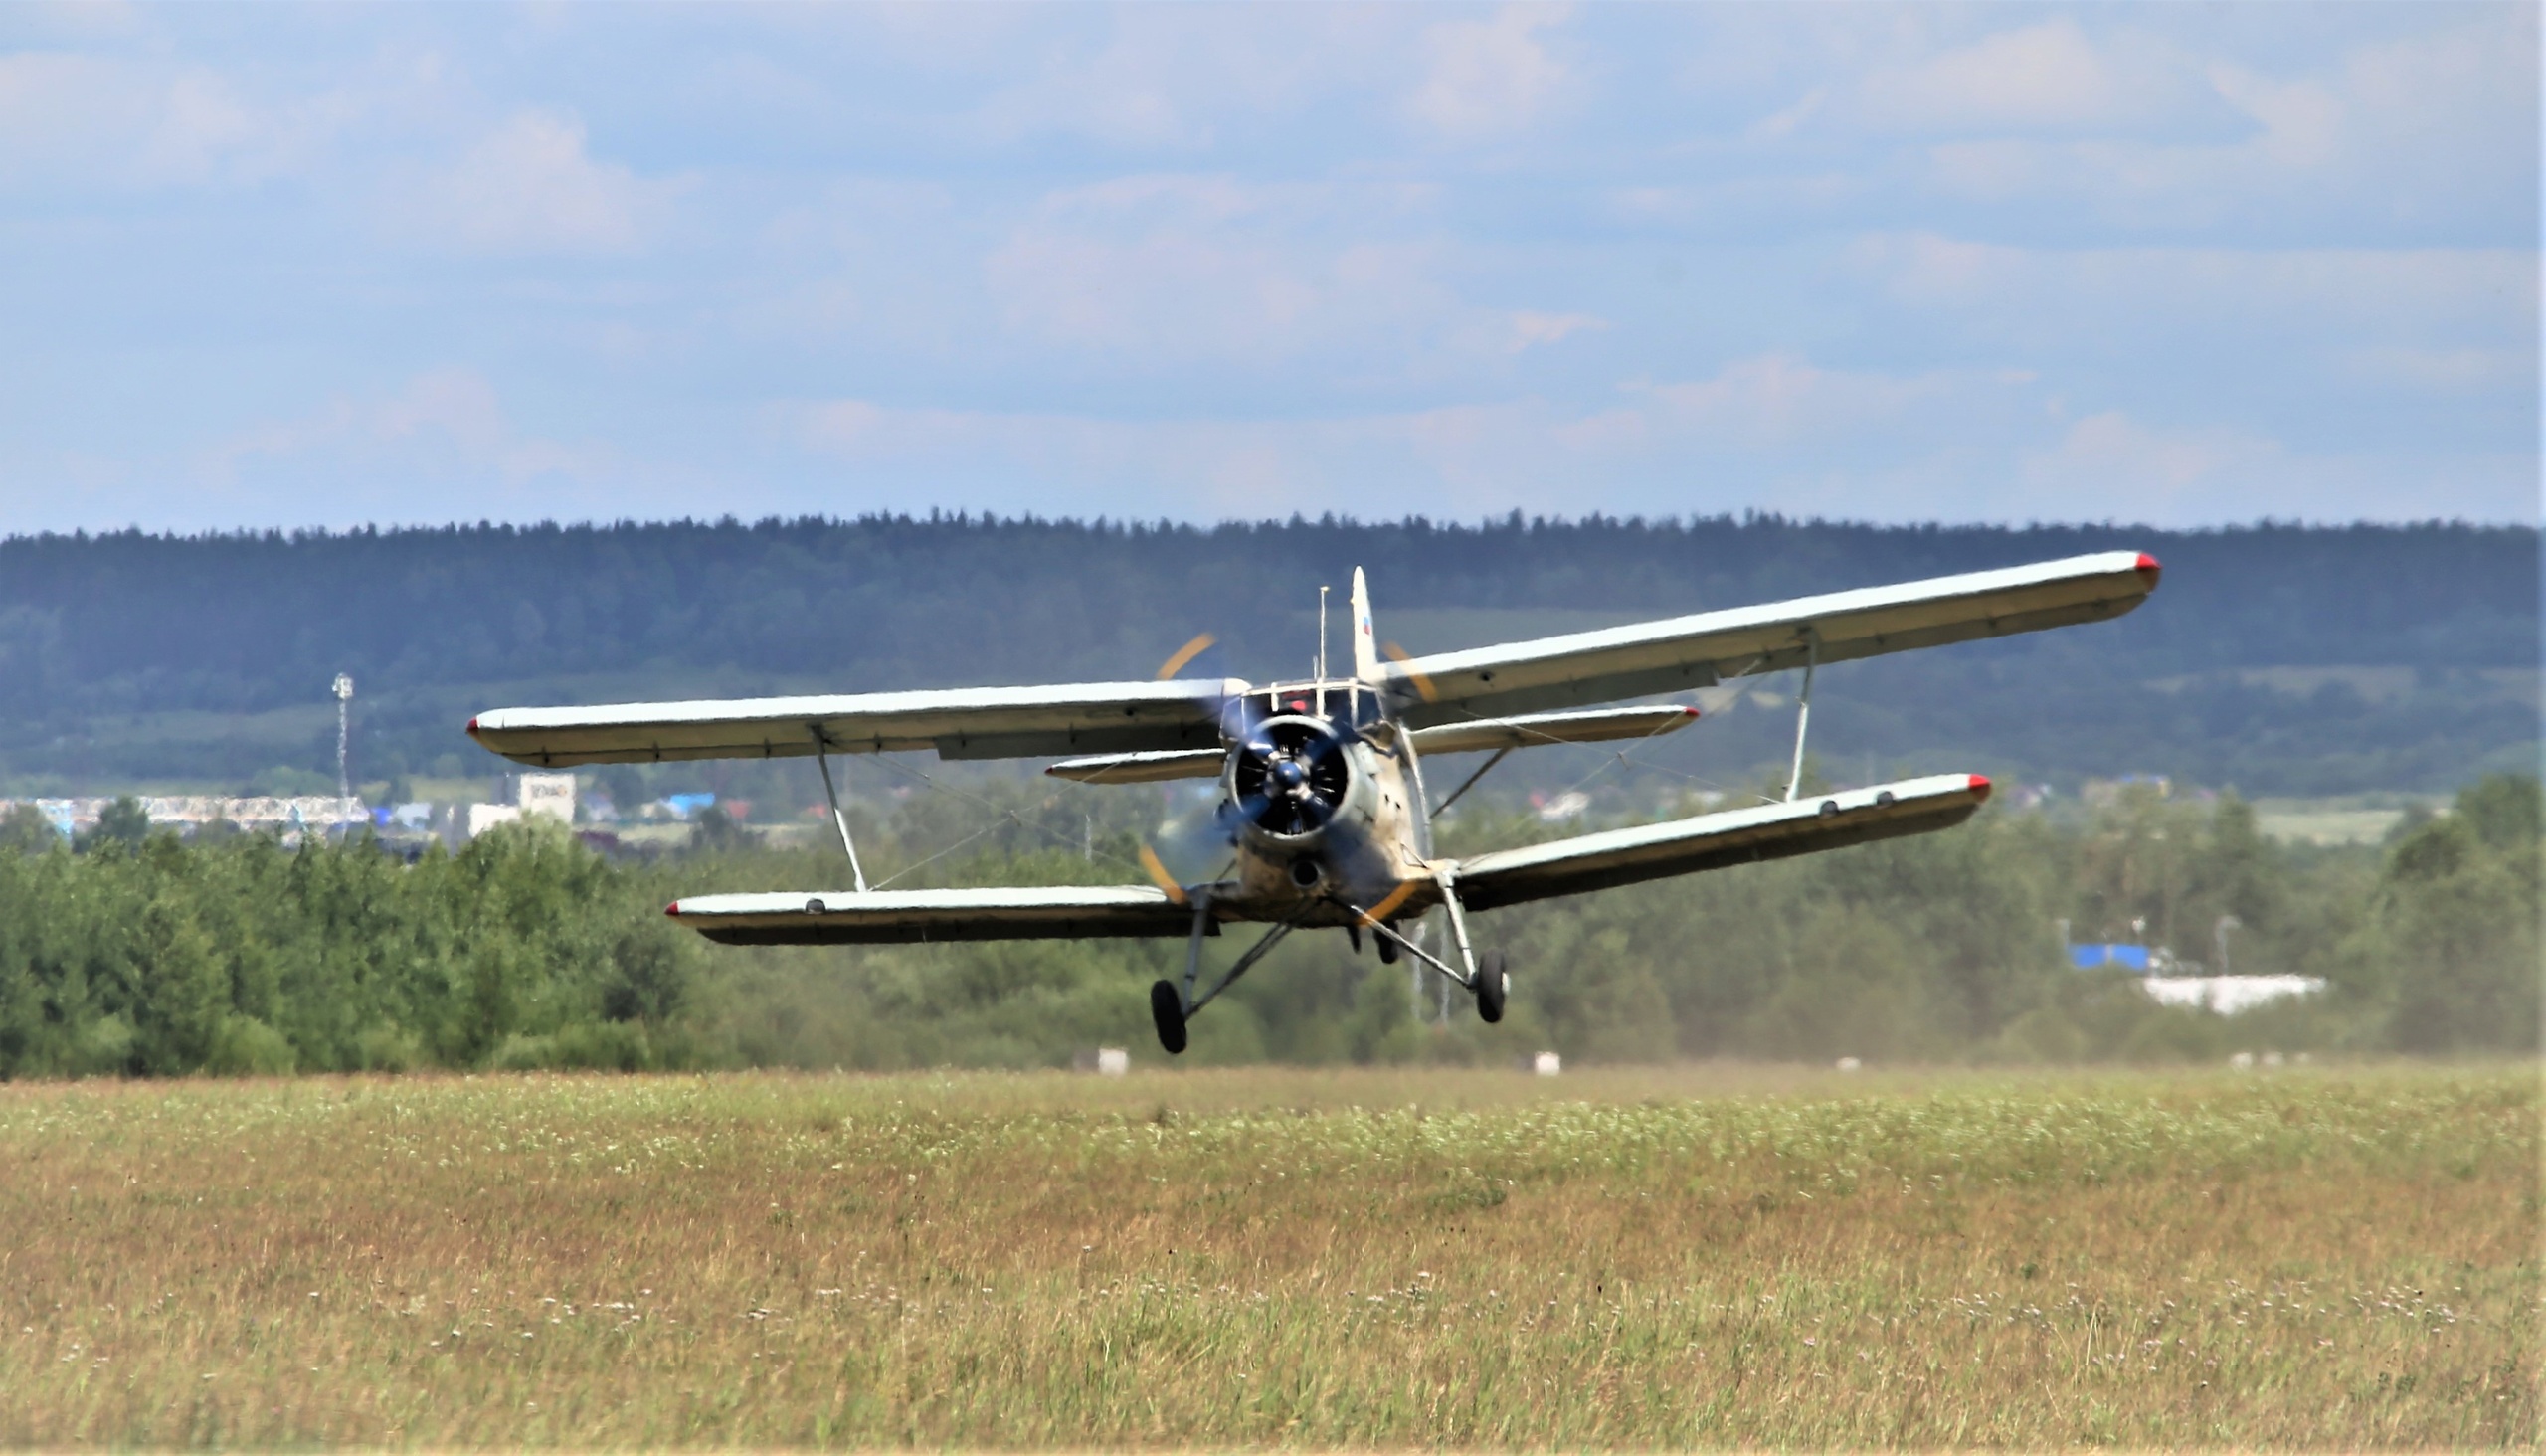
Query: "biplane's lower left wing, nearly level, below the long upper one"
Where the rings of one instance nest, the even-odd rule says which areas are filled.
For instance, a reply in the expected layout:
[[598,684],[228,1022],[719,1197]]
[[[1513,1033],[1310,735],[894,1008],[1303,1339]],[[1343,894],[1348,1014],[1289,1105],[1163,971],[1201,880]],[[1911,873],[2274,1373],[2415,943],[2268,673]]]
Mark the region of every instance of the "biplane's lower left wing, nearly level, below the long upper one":
[[[665,906],[726,944],[911,944],[1192,934],[1194,909],[1151,886],[690,896]],[[1217,924],[1204,934],[1220,934]]]

